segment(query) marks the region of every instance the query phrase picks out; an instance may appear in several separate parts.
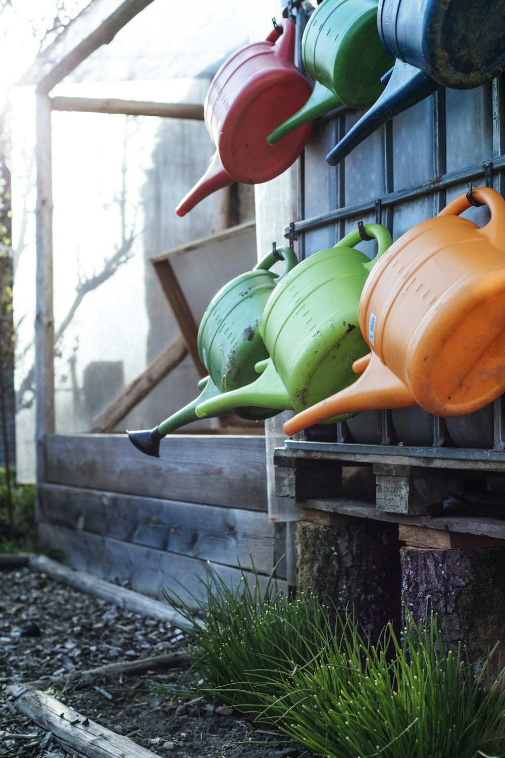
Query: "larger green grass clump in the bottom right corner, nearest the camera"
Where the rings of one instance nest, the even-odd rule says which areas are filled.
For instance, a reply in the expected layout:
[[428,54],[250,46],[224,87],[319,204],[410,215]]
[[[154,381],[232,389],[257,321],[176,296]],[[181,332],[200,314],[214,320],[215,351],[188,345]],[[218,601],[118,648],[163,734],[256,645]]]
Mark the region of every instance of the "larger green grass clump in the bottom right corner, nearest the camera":
[[263,720],[327,758],[505,755],[505,671],[486,681],[494,651],[475,675],[460,645],[446,652],[436,615],[419,624],[407,615],[401,641],[388,625],[376,645],[353,619],[344,626],[282,697],[263,697]]

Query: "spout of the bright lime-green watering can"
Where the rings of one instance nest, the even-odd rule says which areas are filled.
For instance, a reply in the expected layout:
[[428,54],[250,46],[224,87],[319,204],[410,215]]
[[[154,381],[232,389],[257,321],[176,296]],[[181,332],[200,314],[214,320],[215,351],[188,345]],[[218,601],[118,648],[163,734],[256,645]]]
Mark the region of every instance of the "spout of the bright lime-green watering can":
[[208,418],[248,406],[276,411],[292,410],[291,400],[273,362],[270,359],[261,361],[255,368],[258,373],[262,372],[256,381],[201,402],[196,407],[198,418]]

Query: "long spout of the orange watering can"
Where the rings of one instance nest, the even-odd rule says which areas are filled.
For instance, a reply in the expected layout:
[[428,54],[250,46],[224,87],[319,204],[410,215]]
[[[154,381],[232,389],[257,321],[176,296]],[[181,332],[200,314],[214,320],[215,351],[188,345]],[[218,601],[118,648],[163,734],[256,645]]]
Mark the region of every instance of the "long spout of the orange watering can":
[[410,390],[375,353],[369,353],[368,356],[355,361],[353,371],[362,374],[354,384],[286,421],[283,426],[285,434],[291,437],[291,434],[296,434],[313,424],[320,424],[344,413],[417,406]]

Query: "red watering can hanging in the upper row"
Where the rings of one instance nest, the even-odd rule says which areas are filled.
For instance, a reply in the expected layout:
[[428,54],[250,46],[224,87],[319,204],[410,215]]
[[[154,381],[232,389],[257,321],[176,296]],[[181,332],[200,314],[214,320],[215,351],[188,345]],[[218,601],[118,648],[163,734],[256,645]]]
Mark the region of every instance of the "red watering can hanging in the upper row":
[[295,32],[295,24],[285,19],[264,42],[245,45],[218,70],[204,102],[205,126],[216,152],[204,176],[177,206],[177,215],[184,216],[234,182],[267,182],[301,155],[313,121],[280,145],[267,143],[267,136],[298,111],[312,91],[295,67]]

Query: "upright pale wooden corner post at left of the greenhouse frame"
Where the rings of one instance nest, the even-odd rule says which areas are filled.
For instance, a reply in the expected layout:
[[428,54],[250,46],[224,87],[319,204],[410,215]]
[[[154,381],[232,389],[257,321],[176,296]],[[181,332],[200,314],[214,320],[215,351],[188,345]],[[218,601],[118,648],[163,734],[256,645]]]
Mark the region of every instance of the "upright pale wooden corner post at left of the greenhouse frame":
[[36,93],[36,472],[45,481],[44,437],[55,432],[55,320],[52,277],[51,102]]

